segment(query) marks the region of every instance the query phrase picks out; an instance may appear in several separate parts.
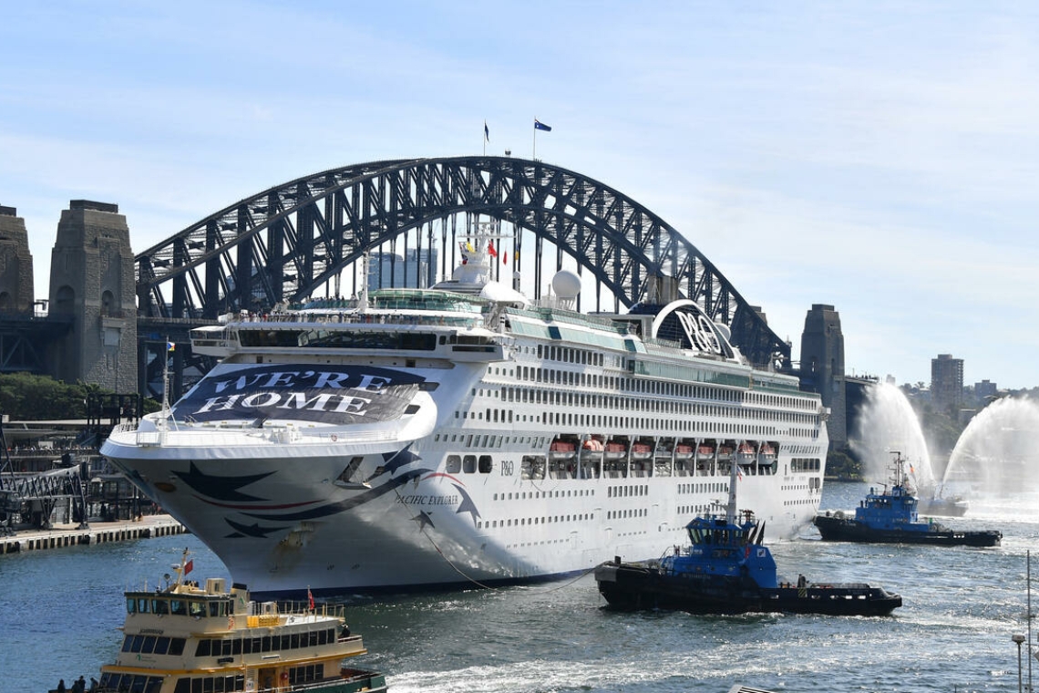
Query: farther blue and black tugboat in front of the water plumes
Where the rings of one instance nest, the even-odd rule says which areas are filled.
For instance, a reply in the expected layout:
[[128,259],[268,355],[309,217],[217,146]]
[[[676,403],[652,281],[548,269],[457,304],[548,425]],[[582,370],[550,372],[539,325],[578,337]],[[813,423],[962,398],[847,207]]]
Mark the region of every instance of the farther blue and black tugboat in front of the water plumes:
[[905,483],[905,460],[893,451],[891,488],[876,492],[873,488],[848,517],[841,510],[816,515],[815,524],[823,539],[828,541],[863,541],[876,543],[927,543],[941,547],[998,547],[1003,533],[996,530],[960,532],[944,525],[922,522],[918,501]]

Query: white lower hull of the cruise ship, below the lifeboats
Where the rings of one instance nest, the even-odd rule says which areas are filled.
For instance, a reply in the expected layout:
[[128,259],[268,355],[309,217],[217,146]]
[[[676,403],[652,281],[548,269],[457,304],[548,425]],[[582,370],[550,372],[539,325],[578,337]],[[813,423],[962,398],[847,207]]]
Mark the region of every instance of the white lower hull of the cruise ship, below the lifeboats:
[[[472,390],[469,379],[456,383],[437,392],[442,403]],[[202,538],[236,582],[263,593],[529,581],[587,570],[614,556],[656,558],[685,540],[690,519],[727,496],[723,462],[677,469],[695,465],[681,453],[632,460],[631,469],[606,455],[597,478],[554,478],[548,469],[543,478],[524,478],[524,457],[543,452],[552,429],[479,421],[437,427],[438,407],[426,399],[426,416],[399,429],[296,422],[274,430],[195,424],[160,431],[145,421],[113,432],[103,452]],[[513,420],[541,408],[514,407]],[[811,443],[817,456],[825,456],[822,432]],[[673,450],[678,437],[660,439]],[[450,469],[449,457],[467,453],[490,457],[489,469]],[[366,481],[339,480],[358,457],[353,478]],[[552,467],[551,456],[542,457]],[[559,457],[559,476],[580,474],[577,451],[568,463]],[[773,539],[794,536],[819,508],[822,470],[794,473],[790,461],[780,453],[775,474],[737,481],[740,507],[753,508]]]

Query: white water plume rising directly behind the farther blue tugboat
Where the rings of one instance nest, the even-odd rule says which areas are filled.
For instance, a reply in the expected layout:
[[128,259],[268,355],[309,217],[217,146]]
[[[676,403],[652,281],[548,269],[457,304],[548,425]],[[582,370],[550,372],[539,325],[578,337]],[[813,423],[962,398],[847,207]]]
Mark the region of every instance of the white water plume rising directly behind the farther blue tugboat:
[[867,480],[886,483],[891,477],[893,452],[902,453],[906,473],[916,486],[933,486],[931,456],[916,412],[902,391],[890,383],[867,389],[865,403],[858,416],[852,450],[862,461]]

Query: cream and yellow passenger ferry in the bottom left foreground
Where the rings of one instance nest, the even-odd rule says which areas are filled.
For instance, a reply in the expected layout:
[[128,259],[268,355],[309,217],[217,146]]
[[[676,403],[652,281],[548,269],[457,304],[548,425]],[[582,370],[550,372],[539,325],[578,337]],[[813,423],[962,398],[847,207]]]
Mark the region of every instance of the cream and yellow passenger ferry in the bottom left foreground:
[[385,676],[354,669],[344,660],[368,650],[351,635],[342,605],[297,608],[249,601],[242,585],[223,579],[205,587],[184,580],[192,563],[187,551],[177,578],[155,591],[126,592],[123,648],[115,664],[101,668],[99,693],[194,693],[194,691],[307,691],[379,693]]

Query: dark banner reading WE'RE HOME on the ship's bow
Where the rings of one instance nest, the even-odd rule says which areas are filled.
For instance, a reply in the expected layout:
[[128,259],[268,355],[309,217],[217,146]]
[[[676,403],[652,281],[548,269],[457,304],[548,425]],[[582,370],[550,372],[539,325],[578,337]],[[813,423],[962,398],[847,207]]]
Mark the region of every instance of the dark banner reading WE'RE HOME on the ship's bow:
[[420,375],[370,366],[258,366],[210,374],[174,406],[191,421],[302,420],[361,424],[399,419]]

